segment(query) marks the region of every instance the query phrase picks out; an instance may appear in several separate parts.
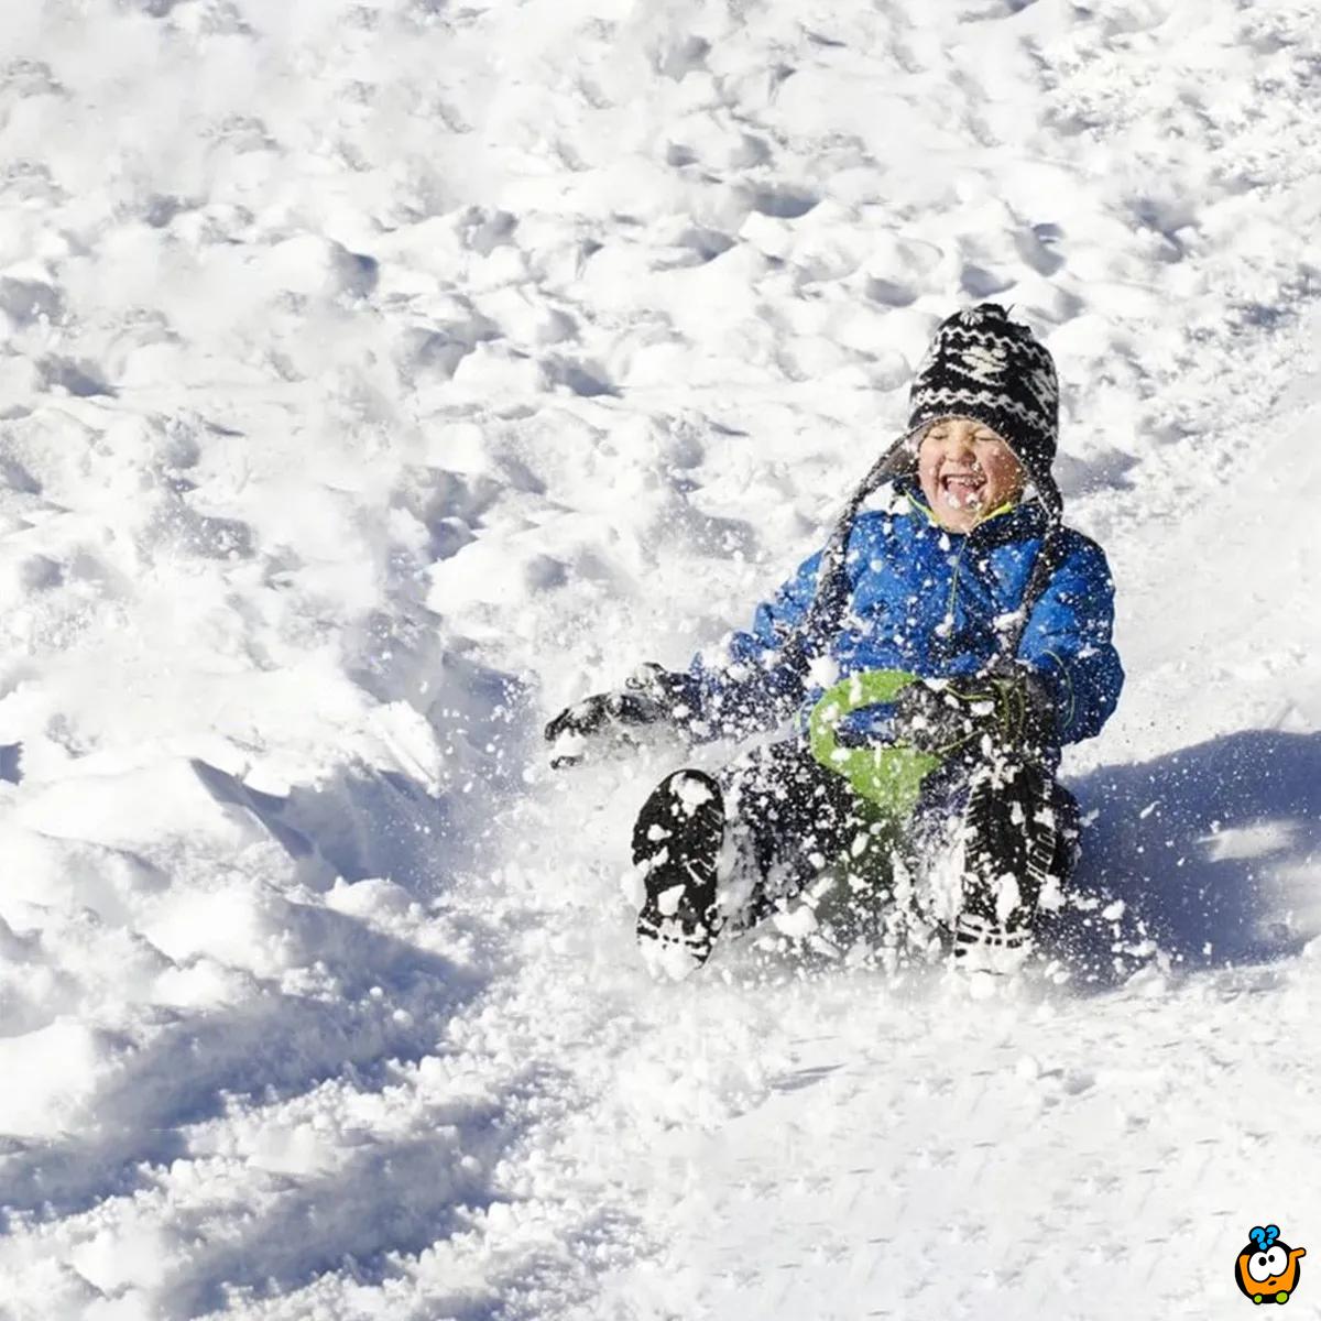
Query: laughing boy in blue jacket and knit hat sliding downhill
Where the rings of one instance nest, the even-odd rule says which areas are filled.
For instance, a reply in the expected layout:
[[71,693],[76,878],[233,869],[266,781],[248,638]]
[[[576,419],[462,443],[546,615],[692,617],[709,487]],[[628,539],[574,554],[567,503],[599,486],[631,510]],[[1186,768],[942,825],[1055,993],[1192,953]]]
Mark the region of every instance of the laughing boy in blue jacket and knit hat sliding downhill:
[[[926,754],[898,852],[964,966],[1021,964],[1077,861],[1059,748],[1099,732],[1123,670],[1104,553],[1061,522],[1054,363],[1026,326],[982,304],[941,325],[910,404],[908,433],[826,548],[758,606],[723,660],[699,657],[686,674],[643,666],[625,691],[547,725],[563,765],[587,741],[629,741],[647,724],[699,741],[775,729],[798,712],[793,736],[716,775],[676,771],[639,812],[638,939],[672,976],[841,859],[855,875],[880,851],[893,860],[894,831],[841,773],[856,749]],[[882,486],[882,507],[863,510]],[[860,700],[880,691],[875,671],[902,672],[893,700]],[[830,717],[828,756],[807,737],[814,711]]]

